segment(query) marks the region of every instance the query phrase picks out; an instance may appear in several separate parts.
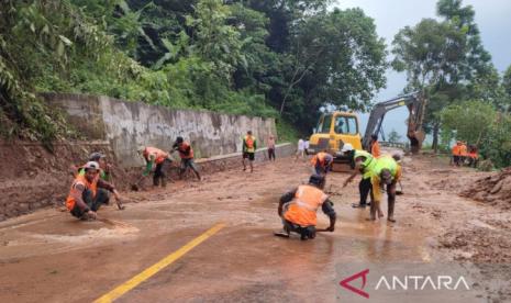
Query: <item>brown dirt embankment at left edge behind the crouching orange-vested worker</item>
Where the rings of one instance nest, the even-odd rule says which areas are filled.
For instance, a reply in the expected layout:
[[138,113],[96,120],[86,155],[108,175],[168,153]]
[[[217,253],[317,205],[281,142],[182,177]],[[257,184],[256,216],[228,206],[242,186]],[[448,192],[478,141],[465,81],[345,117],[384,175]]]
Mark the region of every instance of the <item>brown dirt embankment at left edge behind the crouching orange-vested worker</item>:
[[[62,205],[73,181],[71,165],[82,165],[92,152],[114,161],[108,144],[55,143],[48,152],[41,144],[0,143],[0,221],[34,210]],[[114,168],[115,186],[127,188],[126,171]]]

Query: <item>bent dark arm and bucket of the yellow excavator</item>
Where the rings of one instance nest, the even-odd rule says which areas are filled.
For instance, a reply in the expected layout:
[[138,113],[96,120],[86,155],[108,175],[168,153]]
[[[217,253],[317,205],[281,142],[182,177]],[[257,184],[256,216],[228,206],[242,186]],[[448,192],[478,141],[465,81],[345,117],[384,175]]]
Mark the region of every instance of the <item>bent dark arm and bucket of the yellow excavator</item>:
[[420,92],[403,94],[401,97],[377,103],[370,112],[366,133],[362,141],[364,148],[369,148],[370,136],[373,134],[379,134],[381,132],[381,125],[387,112],[400,106],[407,106],[410,113],[408,117],[407,137],[410,139],[412,153],[419,153],[425,137],[422,124],[424,122],[426,103],[427,100]]

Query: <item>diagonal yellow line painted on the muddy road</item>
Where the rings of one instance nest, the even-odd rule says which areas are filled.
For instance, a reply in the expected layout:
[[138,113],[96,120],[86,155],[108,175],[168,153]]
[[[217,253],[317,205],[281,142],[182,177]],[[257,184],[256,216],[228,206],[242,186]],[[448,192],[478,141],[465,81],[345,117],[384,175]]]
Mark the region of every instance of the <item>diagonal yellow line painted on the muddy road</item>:
[[167,266],[175,262],[180,257],[185,256],[188,251],[193,249],[193,247],[198,246],[212,235],[216,234],[220,229],[225,227],[225,224],[219,223],[211,227],[209,231],[203,233],[202,235],[198,236],[197,238],[192,239],[178,250],[174,251],[173,254],[168,255],[167,257],[163,258],[155,265],[151,266],[149,268],[145,269],[141,273],[136,274],[132,279],[127,280],[126,282],[122,283],[121,285],[116,287],[115,289],[111,290],[110,292],[105,293],[101,298],[97,299],[95,303],[105,303],[112,302],[119,299],[121,295],[125,294],[126,292],[131,291],[132,289],[136,288],[140,283],[144,282],[145,280],[149,279],[154,274],[156,274],[162,269],[166,268]]

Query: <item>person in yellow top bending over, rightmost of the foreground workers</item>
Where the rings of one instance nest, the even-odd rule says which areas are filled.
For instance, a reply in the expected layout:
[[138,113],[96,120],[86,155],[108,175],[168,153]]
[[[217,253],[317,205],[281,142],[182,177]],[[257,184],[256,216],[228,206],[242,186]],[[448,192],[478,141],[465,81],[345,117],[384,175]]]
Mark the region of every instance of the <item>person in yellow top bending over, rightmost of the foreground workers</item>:
[[377,159],[376,165],[370,168],[370,182],[371,182],[371,198],[370,205],[370,220],[382,217],[384,213],[380,209],[381,203],[381,188],[386,187],[388,197],[388,213],[387,220],[396,222],[393,218],[393,209],[396,204],[396,184],[401,178],[401,166],[388,155],[381,156]]

